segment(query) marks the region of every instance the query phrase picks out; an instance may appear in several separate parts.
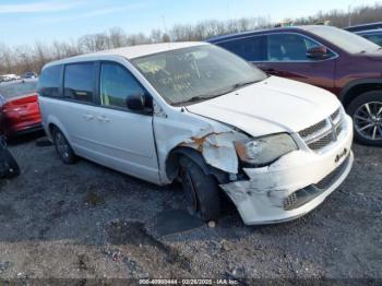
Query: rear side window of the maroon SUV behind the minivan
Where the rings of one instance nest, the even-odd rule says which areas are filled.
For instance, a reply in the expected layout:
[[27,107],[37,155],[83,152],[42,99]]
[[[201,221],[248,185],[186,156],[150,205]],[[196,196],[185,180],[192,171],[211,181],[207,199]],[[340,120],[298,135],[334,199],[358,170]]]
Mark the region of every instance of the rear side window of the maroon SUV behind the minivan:
[[264,60],[263,36],[234,39],[217,45],[238,55],[247,61]]

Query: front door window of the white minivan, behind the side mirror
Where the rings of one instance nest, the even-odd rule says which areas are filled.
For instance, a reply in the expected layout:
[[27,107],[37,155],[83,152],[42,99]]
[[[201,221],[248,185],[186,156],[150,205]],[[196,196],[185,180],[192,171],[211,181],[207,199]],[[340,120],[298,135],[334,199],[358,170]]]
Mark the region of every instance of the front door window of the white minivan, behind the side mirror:
[[103,62],[100,67],[100,104],[127,109],[127,98],[133,94],[144,94],[135,78],[122,65]]

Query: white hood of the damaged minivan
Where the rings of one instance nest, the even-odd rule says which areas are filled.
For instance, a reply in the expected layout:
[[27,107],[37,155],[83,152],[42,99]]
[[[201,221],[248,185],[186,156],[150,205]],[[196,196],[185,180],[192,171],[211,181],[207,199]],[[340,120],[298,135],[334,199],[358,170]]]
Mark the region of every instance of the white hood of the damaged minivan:
[[271,76],[239,91],[187,106],[190,112],[235,126],[252,136],[298,132],[330,117],[338,99],[322,88]]

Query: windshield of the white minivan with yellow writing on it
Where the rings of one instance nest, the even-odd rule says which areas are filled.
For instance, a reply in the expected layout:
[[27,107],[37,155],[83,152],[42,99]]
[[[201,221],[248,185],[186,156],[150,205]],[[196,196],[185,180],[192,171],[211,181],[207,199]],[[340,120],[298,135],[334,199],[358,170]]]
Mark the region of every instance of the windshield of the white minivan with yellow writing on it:
[[171,105],[206,100],[266,78],[250,63],[212,45],[160,52],[132,62]]

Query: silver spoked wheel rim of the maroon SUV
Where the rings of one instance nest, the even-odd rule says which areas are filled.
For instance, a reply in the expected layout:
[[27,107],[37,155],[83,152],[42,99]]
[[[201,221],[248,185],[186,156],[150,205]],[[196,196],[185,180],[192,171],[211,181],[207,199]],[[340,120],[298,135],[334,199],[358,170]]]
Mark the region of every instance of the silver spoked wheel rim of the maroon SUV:
[[354,115],[356,131],[369,140],[382,140],[382,103],[371,102],[360,106]]

